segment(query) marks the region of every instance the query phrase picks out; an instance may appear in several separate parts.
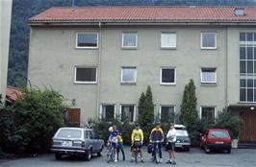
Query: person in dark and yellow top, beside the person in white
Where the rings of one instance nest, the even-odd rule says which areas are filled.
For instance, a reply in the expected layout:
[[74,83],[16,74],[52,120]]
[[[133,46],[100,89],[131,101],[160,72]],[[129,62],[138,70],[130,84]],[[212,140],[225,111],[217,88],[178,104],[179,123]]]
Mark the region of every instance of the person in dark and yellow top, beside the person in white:
[[153,143],[153,146],[154,146],[154,150],[152,153],[153,158],[156,155],[155,150],[156,150],[156,147],[158,146],[159,157],[160,157],[159,162],[162,163],[163,162],[162,143],[164,142],[164,132],[161,128],[160,122],[156,123],[156,127],[151,131],[149,138],[150,138],[150,142]]

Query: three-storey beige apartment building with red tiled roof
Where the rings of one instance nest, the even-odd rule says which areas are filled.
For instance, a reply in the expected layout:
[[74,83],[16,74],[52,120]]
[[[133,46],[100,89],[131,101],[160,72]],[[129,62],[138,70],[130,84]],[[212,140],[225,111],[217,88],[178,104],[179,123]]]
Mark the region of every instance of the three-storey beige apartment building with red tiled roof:
[[51,8],[30,18],[28,78],[60,91],[79,123],[137,120],[146,86],[155,114],[175,122],[185,84],[200,118],[223,107],[256,140],[255,7]]

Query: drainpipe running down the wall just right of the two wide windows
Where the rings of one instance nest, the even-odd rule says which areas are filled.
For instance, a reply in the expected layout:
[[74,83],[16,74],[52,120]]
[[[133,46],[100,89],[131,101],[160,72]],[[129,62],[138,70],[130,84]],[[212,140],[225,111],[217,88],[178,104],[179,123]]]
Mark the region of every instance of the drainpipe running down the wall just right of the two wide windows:
[[100,79],[101,79],[101,54],[102,54],[102,37],[101,37],[101,22],[98,24],[99,26],[99,50],[98,50],[98,69],[97,69],[97,95],[96,95],[96,112],[97,112],[97,119],[100,116]]

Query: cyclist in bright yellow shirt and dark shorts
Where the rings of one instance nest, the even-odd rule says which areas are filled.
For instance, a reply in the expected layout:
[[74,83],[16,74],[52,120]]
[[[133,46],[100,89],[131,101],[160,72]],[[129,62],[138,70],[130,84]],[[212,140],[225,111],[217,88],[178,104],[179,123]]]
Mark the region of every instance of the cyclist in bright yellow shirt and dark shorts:
[[131,141],[132,141],[132,147],[131,147],[131,151],[132,151],[132,158],[131,158],[131,162],[134,161],[135,159],[135,148],[139,147],[140,149],[140,155],[141,155],[141,162],[143,161],[143,156],[142,156],[142,152],[141,152],[141,146],[143,144],[143,131],[140,128],[140,125],[138,123],[135,124],[135,129],[132,132],[131,135]]

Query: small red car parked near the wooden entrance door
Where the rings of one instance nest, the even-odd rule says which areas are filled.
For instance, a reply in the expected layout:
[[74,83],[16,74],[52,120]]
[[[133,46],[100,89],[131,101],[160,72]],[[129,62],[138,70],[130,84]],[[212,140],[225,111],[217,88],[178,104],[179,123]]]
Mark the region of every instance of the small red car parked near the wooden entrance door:
[[231,137],[225,129],[207,129],[200,138],[200,147],[206,153],[212,150],[226,150],[231,153]]

